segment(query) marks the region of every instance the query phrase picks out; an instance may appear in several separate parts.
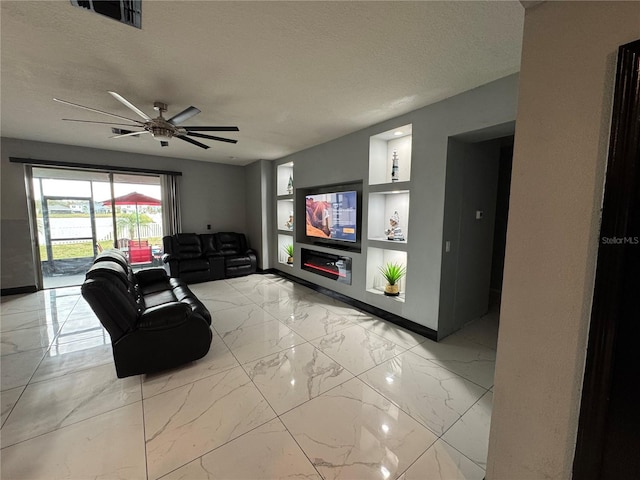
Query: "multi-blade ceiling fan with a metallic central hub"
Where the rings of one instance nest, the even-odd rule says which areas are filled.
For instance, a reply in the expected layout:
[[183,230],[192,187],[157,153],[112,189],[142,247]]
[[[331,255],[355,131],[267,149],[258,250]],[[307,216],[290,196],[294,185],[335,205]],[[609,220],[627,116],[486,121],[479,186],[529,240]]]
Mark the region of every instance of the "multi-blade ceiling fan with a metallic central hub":
[[111,138],[122,138],[129,136],[137,136],[143,135],[145,133],[150,133],[153,138],[160,142],[160,145],[163,147],[169,146],[169,140],[171,138],[179,138],[185,142],[196,145],[200,148],[207,149],[208,145],[204,143],[198,142],[189,137],[197,137],[197,138],[206,138],[209,140],[217,140],[219,142],[227,142],[227,143],[237,143],[237,140],[233,140],[230,138],[216,137],[213,135],[205,135],[203,133],[197,132],[238,132],[238,127],[202,127],[202,126],[193,126],[186,127],[180,125],[182,122],[189,120],[194,115],[200,113],[200,110],[196,107],[189,107],[184,109],[182,112],[177,113],[173,117],[169,119],[165,119],[162,114],[167,111],[167,104],[162,102],[154,102],[153,109],[158,112],[158,116],[156,118],[149,117],[146,113],[136,107],[129,100],[124,98],[122,95],[116,92],[109,92],[116,100],[125,105],[127,108],[131,109],[133,112],[137,113],[140,117],[144,119],[144,121],[135,120],[132,118],[123,117],[122,115],[116,115],[115,113],[103,112],[102,110],[97,110],[91,107],[85,107],[84,105],[78,105],[77,103],[68,102],[66,100],[60,100],[59,98],[54,98],[53,100],[59,103],[64,103],[65,105],[71,105],[72,107],[82,108],[84,110],[89,110],[90,112],[101,113],[103,115],[109,115],[110,117],[119,118],[121,120],[126,120],[131,123],[114,123],[114,122],[94,122],[92,120],[75,120],[72,118],[63,118],[67,122],[83,122],[83,123],[100,123],[103,125],[120,125],[126,127],[137,127],[142,128],[139,131],[130,131],[127,133],[123,133],[121,135],[115,135]]

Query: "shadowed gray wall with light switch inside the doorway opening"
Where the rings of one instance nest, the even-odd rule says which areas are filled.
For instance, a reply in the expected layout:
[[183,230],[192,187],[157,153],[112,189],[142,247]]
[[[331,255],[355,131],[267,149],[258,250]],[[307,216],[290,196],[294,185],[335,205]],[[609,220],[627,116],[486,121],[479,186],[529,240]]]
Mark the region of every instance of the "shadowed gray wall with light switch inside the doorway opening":
[[439,337],[488,310],[500,144],[449,140],[443,242],[450,251],[443,248]]

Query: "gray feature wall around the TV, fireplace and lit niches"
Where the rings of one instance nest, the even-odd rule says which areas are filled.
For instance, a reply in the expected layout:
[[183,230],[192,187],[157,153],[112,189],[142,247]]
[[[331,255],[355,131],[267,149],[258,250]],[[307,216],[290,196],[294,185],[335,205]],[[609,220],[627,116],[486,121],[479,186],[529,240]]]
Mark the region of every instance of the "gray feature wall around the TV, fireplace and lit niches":
[[[280,163],[294,162],[296,188],[362,179],[363,237],[366,237],[369,137],[408,123],[413,125],[406,302],[389,301],[365,291],[366,238],[361,254],[347,254],[353,258],[350,286],[303,271],[297,261],[293,268],[277,262],[272,266],[437,330],[448,139],[514,121],[517,92],[518,76],[511,75],[274,162],[274,171]],[[274,198],[272,196],[272,212]],[[270,238],[275,242],[274,222],[270,222],[270,228]],[[296,243],[296,249],[301,246]]]

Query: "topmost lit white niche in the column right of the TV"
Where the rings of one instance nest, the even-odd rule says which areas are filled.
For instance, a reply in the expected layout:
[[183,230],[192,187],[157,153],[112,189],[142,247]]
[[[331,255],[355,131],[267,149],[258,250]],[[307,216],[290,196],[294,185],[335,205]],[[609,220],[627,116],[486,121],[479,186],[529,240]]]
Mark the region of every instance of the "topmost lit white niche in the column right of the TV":
[[369,138],[369,185],[392,184],[393,153],[398,158],[398,181],[411,180],[413,126],[403,125]]

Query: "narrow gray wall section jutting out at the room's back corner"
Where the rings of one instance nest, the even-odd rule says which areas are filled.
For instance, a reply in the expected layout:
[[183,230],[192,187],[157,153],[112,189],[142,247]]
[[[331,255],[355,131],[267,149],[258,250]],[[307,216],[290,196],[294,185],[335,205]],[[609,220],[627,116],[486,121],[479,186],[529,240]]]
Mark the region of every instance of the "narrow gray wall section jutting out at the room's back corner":
[[244,167],[246,235],[249,246],[258,256],[258,268],[269,268],[269,199],[271,195],[271,162],[258,160]]

